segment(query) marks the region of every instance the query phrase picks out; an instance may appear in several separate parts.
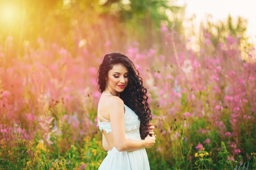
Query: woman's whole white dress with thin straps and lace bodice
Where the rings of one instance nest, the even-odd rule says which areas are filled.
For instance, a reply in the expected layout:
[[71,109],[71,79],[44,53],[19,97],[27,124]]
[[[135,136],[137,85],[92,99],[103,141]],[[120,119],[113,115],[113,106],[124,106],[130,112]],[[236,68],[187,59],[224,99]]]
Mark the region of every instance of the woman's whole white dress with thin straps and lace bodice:
[[[110,94],[104,94],[110,95]],[[103,96],[103,95],[102,95]],[[100,103],[100,102],[99,102]],[[139,133],[140,121],[138,116],[132,111],[128,106],[124,105],[124,123],[126,138],[133,140],[141,140]],[[99,105],[98,105],[98,114],[99,114]],[[99,114],[101,117],[101,115]],[[101,117],[104,119],[103,117]],[[111,122],[99,121],[99,129],[105,130],[107,133],[111,132]],[[135,151],[123,151],[119,152],[117,148],[112,148],[108,151],[108,155],[102,161],[99,166],[99,170],[150,170],[148,155],[145,148],[135,150]]]

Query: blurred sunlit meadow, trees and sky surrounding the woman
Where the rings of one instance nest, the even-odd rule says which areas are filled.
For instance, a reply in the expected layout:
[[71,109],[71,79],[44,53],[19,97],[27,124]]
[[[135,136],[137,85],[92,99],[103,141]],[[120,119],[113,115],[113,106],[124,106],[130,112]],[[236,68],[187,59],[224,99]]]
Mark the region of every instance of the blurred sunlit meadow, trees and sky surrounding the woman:
[[256,169],[256,4],[217,2],[1,0],[0,170],[98,169],[112,51],[148,89],[152,170]]

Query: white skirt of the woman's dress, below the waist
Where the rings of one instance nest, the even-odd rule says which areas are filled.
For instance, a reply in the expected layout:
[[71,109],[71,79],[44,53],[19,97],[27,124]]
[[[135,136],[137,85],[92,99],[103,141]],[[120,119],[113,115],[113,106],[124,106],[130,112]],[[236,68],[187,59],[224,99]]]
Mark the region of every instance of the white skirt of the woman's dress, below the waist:
[[150,170],[146,149],[119,152],[114,147],[108,151],[99,170]]

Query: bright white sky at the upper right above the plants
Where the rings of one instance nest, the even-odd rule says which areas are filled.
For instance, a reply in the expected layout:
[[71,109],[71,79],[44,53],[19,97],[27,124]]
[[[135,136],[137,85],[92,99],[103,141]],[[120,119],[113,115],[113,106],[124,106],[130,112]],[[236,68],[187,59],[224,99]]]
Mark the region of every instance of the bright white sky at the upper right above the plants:
[[227,21],[229,14],[234,20],[238,16],[247,19],[246,34],[249,41],[256,44],[256,0],[177,0],[176,3],[180,6],[186,4],[186,18],[196,15],[196,26],[206,20],[207,14],[212,15],[213,22]]

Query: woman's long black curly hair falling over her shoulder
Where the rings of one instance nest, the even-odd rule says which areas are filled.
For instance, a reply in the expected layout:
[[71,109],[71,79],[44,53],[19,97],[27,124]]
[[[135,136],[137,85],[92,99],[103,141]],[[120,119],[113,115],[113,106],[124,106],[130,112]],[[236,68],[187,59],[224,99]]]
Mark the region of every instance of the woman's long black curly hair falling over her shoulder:
[[124,91],[120,93],[120,98],[124,101],[126,106],[131,108],[136,115],[138,115],[140,121],[140,136],[141,139],[145,139],[148,135],[148,124],[152,120],[151,110],[148,105],[148,96],[146,95],[147,89],[143,86],[139,71],[125,54],[112,52],[104,56],[103,62],[99,66],[97,77],[99,91],[102,93],[105,90],[105,78],[108,77],[108,71],[116,64],[123,64],[128,69],[128,85]]

